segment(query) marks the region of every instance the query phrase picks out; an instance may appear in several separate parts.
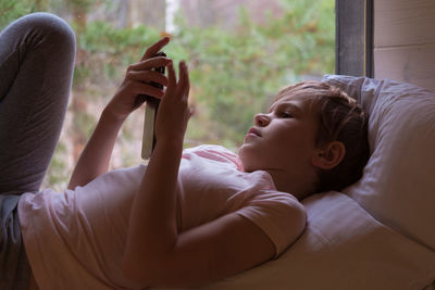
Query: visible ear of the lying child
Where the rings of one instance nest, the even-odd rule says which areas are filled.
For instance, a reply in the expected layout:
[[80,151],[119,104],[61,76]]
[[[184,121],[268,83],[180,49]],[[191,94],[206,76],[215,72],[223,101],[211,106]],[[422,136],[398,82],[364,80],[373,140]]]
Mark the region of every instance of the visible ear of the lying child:
[[345,155],[345,144],[340,141],[332,141],[315,151],[311,156],[311,164],[320,169],[332,169],[343,161]]

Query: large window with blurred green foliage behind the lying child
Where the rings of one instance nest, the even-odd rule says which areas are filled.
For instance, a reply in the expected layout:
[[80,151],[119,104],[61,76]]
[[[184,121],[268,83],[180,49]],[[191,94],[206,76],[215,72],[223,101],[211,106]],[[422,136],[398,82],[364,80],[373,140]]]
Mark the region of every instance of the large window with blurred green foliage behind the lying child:
[[[62,190],[101,109],[128,64],[164,34],[176,62],[189,64],[186,147],[219,143],[237,150],[252,116],[279,88],[335,70],[335,0],[11,0],[14,15],[49,11],[77,36],[72,99],[46,187]],[[3,23],[0,23],[3,25]],[[125,123],[112,166],[141,162],[144,112]]]

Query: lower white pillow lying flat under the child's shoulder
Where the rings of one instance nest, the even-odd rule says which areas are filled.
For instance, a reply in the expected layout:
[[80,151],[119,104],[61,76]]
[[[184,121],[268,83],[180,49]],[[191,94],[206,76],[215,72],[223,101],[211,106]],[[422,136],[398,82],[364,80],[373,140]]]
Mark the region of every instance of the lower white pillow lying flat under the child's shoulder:
[[[201,289],[423,289],[435,253],[376,222],[339,192],[302,202],[308,224],[277,260]],[[249,242],[249,241],[247,241]]]

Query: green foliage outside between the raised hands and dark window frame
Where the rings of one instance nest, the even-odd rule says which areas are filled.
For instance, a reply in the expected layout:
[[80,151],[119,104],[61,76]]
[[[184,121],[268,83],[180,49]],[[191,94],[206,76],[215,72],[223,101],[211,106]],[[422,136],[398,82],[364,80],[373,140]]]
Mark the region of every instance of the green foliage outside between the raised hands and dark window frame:
[[269,16],[265,24],[253,23],[240,10],[239,25],[231,31],[189,27],[178,17],[178,34],[167,52],[188,61],[192,97],[210,116],[209,130],[198,130],[204,123],[196,125],[194,118],[187,138],[206,142],[226,138],[237,147],[252,116],[266,110],[281,87],[303,75],[333,73],[334,1],[284,4],[284,15]]

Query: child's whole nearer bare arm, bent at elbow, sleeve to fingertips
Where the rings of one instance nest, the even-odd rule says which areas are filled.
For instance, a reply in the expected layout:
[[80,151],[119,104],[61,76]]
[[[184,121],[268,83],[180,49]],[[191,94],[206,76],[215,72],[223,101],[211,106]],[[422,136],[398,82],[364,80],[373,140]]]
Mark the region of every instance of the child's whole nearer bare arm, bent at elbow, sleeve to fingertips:
[[[188,74],[181,64],[176,84],[160,104],[157,144],[132,207],[123,272],[146,287],[186,287],[210,282],[272,259],[275,248],[250,220],[233,213],[185,232],[176,229],[176,181],[189,117]],[[299,236],[304,214],[295,202],[289,227]]]

